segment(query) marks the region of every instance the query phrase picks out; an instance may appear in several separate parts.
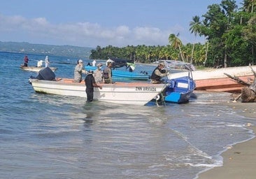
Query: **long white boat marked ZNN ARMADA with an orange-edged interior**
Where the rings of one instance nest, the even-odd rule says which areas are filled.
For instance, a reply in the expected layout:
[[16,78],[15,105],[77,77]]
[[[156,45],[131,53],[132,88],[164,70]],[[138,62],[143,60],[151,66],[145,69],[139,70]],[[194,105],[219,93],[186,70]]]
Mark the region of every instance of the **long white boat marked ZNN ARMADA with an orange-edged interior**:
[[[56,80],[30,79],[35,92],[80,96],[86,98],[85,82],[73,83],[73,79]],[[102,90],[94,87],[94,99],[111,103],[145,105],[165,89],[165,84],[114,83],[101,84]]]

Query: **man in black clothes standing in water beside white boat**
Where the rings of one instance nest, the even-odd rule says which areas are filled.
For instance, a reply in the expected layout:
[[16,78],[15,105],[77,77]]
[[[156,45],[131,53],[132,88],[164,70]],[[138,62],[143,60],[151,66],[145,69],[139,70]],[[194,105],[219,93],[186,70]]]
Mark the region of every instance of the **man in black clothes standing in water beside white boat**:
[[102,89],[100,85],[97,85],[94,79],[94,76],[92,76],[93,71],[88,71],[88,75],[85,77],[85,92],[87,95],[87,101],[86,102],[92,102],[93,100],[93,92],[94,87],[99,87],[99,89]]

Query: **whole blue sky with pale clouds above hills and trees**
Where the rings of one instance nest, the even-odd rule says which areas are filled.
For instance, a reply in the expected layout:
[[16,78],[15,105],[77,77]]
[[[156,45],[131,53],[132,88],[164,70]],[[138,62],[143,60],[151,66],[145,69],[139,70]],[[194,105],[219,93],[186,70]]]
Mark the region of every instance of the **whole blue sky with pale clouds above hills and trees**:
[[[241,7],[243,0],[236,0]],[[192,17],[221,0],[5,0],[0,41],[76,45],[167,45],[204,42],[189,31]]]

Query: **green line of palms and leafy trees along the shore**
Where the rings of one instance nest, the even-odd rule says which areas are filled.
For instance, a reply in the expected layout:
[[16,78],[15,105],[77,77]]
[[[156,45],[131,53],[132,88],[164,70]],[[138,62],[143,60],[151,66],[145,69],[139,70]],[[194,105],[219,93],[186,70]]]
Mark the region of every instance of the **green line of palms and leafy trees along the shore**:
[[192,17],[190,32],[195,38],[204,36],[205,43],[183,44],[179,34],[170,34],[168,45],[97,46],[90,59],[118,57],[140,63],[174,59],[208,67],[255,64],[256,0],[243,0],[241,5],[238,8],[236,1],[223,0],[208,6],[201,17]]

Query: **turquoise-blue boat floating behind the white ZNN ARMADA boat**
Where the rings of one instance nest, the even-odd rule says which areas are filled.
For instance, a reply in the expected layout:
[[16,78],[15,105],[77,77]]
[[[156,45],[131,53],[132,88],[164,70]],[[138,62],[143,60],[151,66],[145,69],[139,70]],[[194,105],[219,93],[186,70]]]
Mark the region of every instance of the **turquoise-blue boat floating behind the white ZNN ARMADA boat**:
[[[85,70],[96,70],[96,66],[85,66]],[[136,71],[129,72],[129,71],[124,71],[124,70],[118,70],[118,69],[113,69],[112,70],[112,76],[115,79],[129,79],[129,80],[149,80],[150,75],[147,73],[138,73]]]

